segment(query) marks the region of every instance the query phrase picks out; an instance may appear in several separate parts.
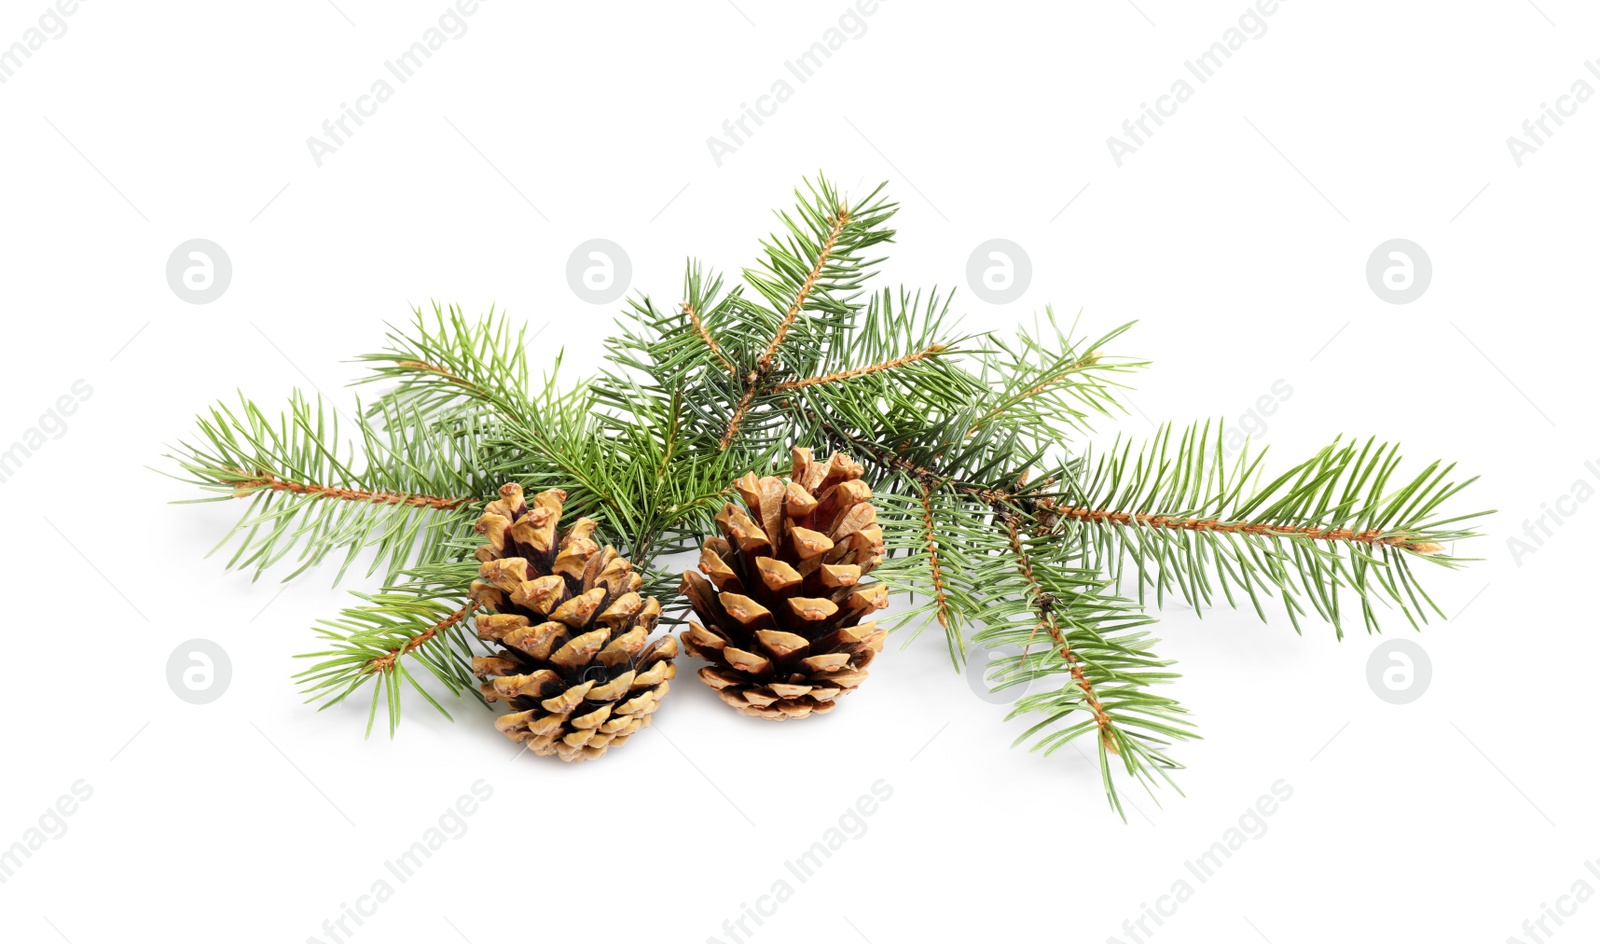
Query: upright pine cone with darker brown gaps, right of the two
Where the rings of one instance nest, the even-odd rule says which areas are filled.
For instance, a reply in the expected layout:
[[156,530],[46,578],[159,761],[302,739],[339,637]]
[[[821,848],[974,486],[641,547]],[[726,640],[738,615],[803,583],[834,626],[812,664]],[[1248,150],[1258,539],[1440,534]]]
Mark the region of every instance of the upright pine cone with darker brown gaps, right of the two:
[[883,562],[872,490],[861,466],[794,450],[790,482],[754,474],[734,482],[749,509],[717,515],[699,566],[683,574],[696,616],[682,635],[710,666],[706,685],[747,715],[782,722],[832,710],[867,677],[885,630],[861,618],[888,606],[883,584],[861,578]]

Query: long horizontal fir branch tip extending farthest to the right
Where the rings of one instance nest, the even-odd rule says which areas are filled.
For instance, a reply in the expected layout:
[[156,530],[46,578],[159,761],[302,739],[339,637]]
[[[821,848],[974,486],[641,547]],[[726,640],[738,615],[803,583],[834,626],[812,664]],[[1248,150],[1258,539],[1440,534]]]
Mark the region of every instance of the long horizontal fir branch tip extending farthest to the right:
[[[1458,566],[1445,547],[1477,536],[1462,523],[1490,512],[1445,517],[1445,502],[1474,478],[1451,482],[1453,466],[1434,462],[1398,478],[1397,445],[1334,440],[1310,459],[1250,488],[1264,451],[1248,446],[1232,461],[1222,427],[1187,427],[1174,442],[1163,427],[1134,451],[1112,448],[1061,493],[1056,538],[1086,544],[1098,566],[1123,578],[1133,562],[1139,600],[1157,605],[1176,590],[1200,611],[1216,592],[1235,605],[1248,595],[1266,619],[1262,597],[1278,595],[1299,632],[1307,611],[1344,635],[1341,590],[1352,590],[1368,632],[1381,632],[1376,603],[1413,624],[1443,616],[1411,573],[1413,560]],[[1309,610],[1307,610],[1309,603]]]

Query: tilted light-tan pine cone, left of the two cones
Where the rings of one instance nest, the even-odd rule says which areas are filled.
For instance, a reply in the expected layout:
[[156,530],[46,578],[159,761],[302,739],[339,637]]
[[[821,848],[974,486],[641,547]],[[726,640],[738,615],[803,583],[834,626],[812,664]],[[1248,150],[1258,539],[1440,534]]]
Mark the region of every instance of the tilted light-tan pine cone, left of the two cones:
[[485,699],[510,706],[494,720],[507,738],[534,754],[589,760],[650,723],[677,675],[678,643],[646,643],[661,603],[640,598],[634,566],[595,544],[595,522],[578,518],[557,544],[565,499],[552,488],[530,509],[520,485],[504,485],[478,518],[475,624],[504,648],[472,659],[472,672],[486,680]]

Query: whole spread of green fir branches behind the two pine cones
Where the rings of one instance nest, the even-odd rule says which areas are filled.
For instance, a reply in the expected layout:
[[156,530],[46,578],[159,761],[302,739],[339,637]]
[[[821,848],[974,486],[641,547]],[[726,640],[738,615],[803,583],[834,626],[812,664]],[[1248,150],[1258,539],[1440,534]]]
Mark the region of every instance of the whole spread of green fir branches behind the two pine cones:
[[907,642],[938,624],[957,667],[970,645],[998,650],[990,682],[1024,688],[1011,714],[1032,720],[1018,741],[1050,754],[1093,738],[1118,813],[1117,771],[1170,782],[1168,750],[1195,736],[1162,693],[1178,675],[1149,634],[1152,590],[1248,600],[1262,619],[1277,597],[1296,629],[1317,616],[1341,635],[1352,594],[1368,632],[1382,606],[1437,613],[1413,563],[1464,560],[1446,547],[1477,514],[1446,506],[1470,478],[1437,462],[1402,477],[1397,446],[1341,438],[1259,485],[1262,453],[1229,456],[1211,424],[1096,451],[1088,437],[1146,366],[1114,350],[1130,325],[1090,334],[1046,310],[971,334],[949,294],[870,288],[894,208],[882,187],[846,200],[808,182],[739,283],[691,261],[670,304],[629,301],[606,366],[573,386],[558,355],[533,378],[533,339],[504,314],[435,306],[358,358],[378,395],[347,445],[299,395],[275,422],[248,402],[203,416],[176,459],[213,499],[251,502],[235,563],[371,550],[386,574],[318,627],[307,696],[326,707],[371,685],[368,730],[382,701],[392,733],[406,686],[442,712],[429,680],[477,694],[470,523],[502,482],[568,491],[670,621],[685,606],[661,560],[712,531],[733,478],[797,443],[867,467],[890,554],[877,573],[909,597]]

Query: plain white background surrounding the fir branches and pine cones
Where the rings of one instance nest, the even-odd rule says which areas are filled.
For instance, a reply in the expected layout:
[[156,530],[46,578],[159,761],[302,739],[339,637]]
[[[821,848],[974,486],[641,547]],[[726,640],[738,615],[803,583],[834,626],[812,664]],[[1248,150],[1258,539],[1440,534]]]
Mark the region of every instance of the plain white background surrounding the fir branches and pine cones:
[[[445,10],[338,5],[86,0],[0,85],[0,445],[74,381],[93,387],[0,485],[0,845],[74,782],[93,789],[0,885],[6,939],[330,941],[323,922],[480,779],[494,794],[467,834],[342,939],[731,941],[723,922],[787,878],[794,896],[744,941],[1133,941],[1123,922],[1189,878],[1142,939],[1499,944],[1531,941],[1523,922],[1576,882],[1600,890],[1584,867],[1600,643],[1574,592],[1600,506],[1563,501],[1574,514],[1536,554],[1507,547],[1576,482],[1600,485],[1584,469],[1600,461],[1600,104],[1520,168],[1506,146],[1574,80],[1600,86],[1592,8],[1283,3],[1118,168],[1106,138],[1243,0],[885,0],[803,85],[784,61],[843,0],[486,0],[318,168],[307,136]],[[43,11],[6,0],[0,43]],[[794,98],[717,166],[706,139],[786,77]],[[634,286],[670,302],[690,254],[749,264],[818,170],[858,194],[888,181],[904,208],[885,278],[962,288],[973,328],[1046,304],[1090,330],[1138,320],[1122,352],[1155,366],[1125,432],[1232,422],[1285,381],[1275,467],[1344,432],[1480,474],[1459,507],[1501,510],[1458,550],[1485,560],[1426,574],[1459,613],[1418,637],[1430,690],[1379,701],[1379,640],[1358,627],[1336,643],[1320,624],[1301,638],[1278,616],[1170,610],[1171,691],[1205,741],[1176,752],[1187,795],[1134,790],[1126,824],[1075,750],[1011,750],[1019,726],[933,635],[891,643],[838,712],[794,725],[738,717],[685,672],[659,726],[594,765],[514,762],[470,704],[451,725],[408,702],[395,741],[362,739],[365,706],[302,707],[293,654],[346,587],[205,558],[237,509],[168,506],[192,493],[150,469],[170,469],[163,443],[235,387],[346,397],[347,358],[430,299],[506,307],[542,326],[536,363],[566,347],[581,373],[618,306],[573,294],[573,246],[618,242]],[[234,262],[206,306],[165,280],[195,237]],[[963,285],[992,237],[1034,266],[1002,307]],[[1413,304],[1365,278],[1394,237],[1432,258]],[[195,637],[232,658],[208,706],[165,675]],[[795,882],[784,861],[880,779],[893,797],[866,834]],[[1210,882],[1187,874],[1280,779],[1293,798],[1266,834]],[[1594,939],[1600,904],[1565,920],[1554,939]]]

